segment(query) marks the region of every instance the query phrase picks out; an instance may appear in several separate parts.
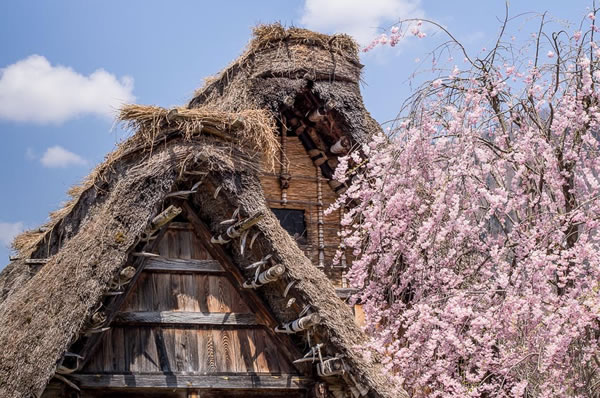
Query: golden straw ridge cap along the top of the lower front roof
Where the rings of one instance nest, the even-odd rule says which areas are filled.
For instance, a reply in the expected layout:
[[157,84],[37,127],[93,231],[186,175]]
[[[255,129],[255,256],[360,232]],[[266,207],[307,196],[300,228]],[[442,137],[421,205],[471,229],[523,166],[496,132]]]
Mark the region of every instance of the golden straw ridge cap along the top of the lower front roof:
[[[273,118],[263,110],[245,110],[229,113],[211,108],[184,107],[165,109],[158,106],[125,105],[118,119],[135,133],[120,143],[116,150],[107,155],[85,180],[69,189],[69,200],[60,209],[50,213],[49,221],[42,228],[25,231],[15,237],[12,247],[22,257],[40,243],[47,233],[71,213],[81,195],[105,179],[105,174],[118,160],[138,152],[152,152],[154,146],[171,136],[180,134],[185,140],[203,134],[216,136],[228,145],[246,148],[261,154],[273,168],[279,152],[279,141],[275,135]],[[264,165],[263,165],[264,166]]]

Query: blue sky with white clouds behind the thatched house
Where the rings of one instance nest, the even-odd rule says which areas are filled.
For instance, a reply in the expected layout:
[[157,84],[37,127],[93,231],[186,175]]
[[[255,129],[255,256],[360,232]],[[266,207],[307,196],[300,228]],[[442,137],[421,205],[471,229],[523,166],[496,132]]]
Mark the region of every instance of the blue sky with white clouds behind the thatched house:
[[[548,11],[577,24],[589,1],[513,1],[511,14]],[[184,104],[239,55],[252,26],[280,21],[366,43],[407,18],[446,26],[477,53],[490,46],[502,0],[229,0],[5,2],[0,13],[0,268],[14,234],[47,220],[67,189],[114,149],[120,103]],[[526,37],[534,14],[512,26]],[[573,31],[576,29],[573,29]],[[435,37],[434,31],[428,31]],[[520,36],[521,37],[521,36]],[[439,43],[439,40],[438,40]],[[409,76],[436,40],[407,39],[362,57],[367,108],[396,115]]]

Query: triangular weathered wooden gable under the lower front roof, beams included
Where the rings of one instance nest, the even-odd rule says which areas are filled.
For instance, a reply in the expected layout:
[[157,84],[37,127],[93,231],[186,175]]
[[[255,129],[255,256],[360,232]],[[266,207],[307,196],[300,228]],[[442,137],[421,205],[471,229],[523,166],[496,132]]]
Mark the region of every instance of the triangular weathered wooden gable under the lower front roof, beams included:
[[[69,375],[80,397],[304,396],[314,381],[207,245],[186,220],[169,225],[110,328]],[[64,391],[51,384],[44,397]]]

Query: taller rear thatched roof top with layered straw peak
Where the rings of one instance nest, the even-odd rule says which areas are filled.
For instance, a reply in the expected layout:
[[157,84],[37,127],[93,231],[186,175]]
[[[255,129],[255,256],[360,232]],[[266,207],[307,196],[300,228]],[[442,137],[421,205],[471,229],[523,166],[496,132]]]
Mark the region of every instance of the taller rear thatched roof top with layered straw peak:
[[278,115],[307,95],[334,109],[336,124],[365,142],[379,124],[364,108],[358,45],[347,35],[260,25],[246,51],[196,91],[190,107],[210,104],[237,112],[268,109]]

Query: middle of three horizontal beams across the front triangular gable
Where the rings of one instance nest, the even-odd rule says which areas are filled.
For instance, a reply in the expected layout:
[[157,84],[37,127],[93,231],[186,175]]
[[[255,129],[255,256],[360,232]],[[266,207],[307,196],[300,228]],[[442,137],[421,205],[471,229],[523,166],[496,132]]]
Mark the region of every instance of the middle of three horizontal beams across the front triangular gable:
[[253,326],[256,315],[222,312],[119,312],[113,320],[118,325],[181,325],[181,326]]

